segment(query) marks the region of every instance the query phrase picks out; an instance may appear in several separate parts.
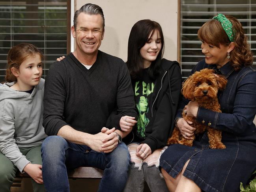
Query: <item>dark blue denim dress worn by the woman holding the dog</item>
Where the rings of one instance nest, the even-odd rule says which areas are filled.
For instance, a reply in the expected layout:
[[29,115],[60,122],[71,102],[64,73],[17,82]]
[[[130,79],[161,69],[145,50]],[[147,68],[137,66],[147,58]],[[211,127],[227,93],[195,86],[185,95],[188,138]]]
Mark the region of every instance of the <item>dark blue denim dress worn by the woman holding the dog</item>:
[[[247,183],[256,169],[256,70],[243,67],[234,71],[229,63],[220,69],[199,62],[191,73],[213,68],[226,76],[226,89],[218,93],[222,113],[198,109],[197,120],[222,130],[226,149],[209,149],[207,133],[196,137],[192,147],[173,144],[164,151],[160,166],[176,177],[190,159],[183,175],[206,192],[239,192],[240,182]],[[183,98],[178,116],[188,101]]]

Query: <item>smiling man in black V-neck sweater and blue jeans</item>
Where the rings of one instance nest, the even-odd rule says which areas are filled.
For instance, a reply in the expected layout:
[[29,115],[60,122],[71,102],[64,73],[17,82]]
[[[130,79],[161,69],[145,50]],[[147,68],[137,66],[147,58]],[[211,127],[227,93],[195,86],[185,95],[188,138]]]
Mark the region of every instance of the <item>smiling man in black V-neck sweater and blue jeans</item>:
[[76,50],[47,74],[43,126],[49,137],[41,151],[48,192],[69,191],[67,169],[78,166],[104,170],[99,192],[125,186],[129,153],[121,138],[136,123],[135,102],[126,64],[98,50],[104,26],[101,7],[77,10],[71,28]]

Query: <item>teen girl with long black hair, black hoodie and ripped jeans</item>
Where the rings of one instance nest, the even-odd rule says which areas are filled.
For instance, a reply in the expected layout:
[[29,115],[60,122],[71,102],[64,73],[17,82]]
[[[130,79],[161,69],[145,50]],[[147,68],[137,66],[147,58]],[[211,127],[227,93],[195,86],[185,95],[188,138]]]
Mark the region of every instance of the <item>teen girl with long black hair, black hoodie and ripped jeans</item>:
[[[138,120],[130,134],[131,168],[124,192],[143,191],[144,181],[151,192],[168,191],[159,174],[159,156],[174,127],[181,71],[178,62],[162,59],[163,49],[159,23],[149,19],[136,22],[129,36],[127,66]],[[129,126],[129,123],[121,124],[121,129],[126,124]]]

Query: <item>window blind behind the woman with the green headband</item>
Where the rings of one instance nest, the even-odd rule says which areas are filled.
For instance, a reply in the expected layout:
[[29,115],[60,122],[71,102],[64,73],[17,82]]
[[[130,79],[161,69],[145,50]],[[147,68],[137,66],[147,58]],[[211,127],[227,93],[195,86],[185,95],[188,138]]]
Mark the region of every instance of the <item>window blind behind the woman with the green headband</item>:
[[[181,0],[180,59],[183,79],[189,76],[196,63],[204,59],[201,41],[197,38],[198,29],[217,13],[232,15],[241,22],[250,48],[256,55],[256,4],[252,3],[256,0]],[[255,67],[256,62],[253,64]]]

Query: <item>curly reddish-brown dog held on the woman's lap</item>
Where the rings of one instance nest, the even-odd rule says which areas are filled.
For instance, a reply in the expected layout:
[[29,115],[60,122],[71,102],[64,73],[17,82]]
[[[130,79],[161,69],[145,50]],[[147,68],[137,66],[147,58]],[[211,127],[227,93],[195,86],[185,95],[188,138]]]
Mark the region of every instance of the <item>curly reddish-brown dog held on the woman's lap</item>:
[[[220,104],[218,102],[217,93],[218,90],[223,90],[226,87],[227,80],[223,76],[215,75],[213,69],[202,69],[196,71],[193,75],[189,76],[185,80],[182,86],[182,93],[186,99],[197,101],[199,107],[203,107],[212,111],[221,112]],[[189,120],[192,123],[191,127],[196,128],[193,140],[184,138],[177,127],[174,127],[172,136],[168,139],[168,145],[170,144],[182,144],[192,146],[195,139],[195,134],[204,132],[207,129],[209,138],[209,147],[211,149],[225,149],[226,146],[221,142],[221,130],[212,129],[204,124],[196,121],[195,117],[186,116],[182,113],[185,120]]]

